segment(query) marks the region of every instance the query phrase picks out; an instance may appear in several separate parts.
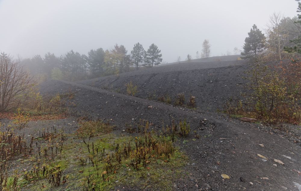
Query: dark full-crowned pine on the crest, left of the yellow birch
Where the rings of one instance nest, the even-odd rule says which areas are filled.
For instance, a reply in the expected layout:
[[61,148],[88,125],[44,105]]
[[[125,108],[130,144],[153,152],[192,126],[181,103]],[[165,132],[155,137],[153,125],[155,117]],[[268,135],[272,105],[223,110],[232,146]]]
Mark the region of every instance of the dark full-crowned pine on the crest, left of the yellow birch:
[[256,57],[265,48],[265,36],[255,24],[251,28],[251,31],[248,32],[248,35],[245,39],[244,51],[240,54],[245,56],[245,58]]

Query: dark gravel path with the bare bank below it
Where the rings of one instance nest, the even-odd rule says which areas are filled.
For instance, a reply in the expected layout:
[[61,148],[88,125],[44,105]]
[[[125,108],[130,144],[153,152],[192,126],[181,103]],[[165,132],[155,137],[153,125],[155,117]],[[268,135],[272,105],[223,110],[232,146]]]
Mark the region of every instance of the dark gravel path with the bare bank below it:
[[[301,191],[301,175],[298,174],[301,171],[301,149],[287,139],[261,129],[216,119],[214,115],[207,116],[87,85],[59,81],[41,85],[43,94],[64,91],[75,92],[71,109],[88,112],[94,118],[106,118],[119,124],[120,130],[125,129],[126,123],[137,122],[139,118],[152,121],[157,128],[162,121],[169,123],[170,116],[176,121],[187,118],[191,124],[191,136],[180,139],[177,144],[190,158],[186,165],[189,178],[176,180],[174,190]],[[194,137],[194,131],[200,139]],[[284,165],[274,159],[281,160]],[[222,174],[230,179],[223,179]]]

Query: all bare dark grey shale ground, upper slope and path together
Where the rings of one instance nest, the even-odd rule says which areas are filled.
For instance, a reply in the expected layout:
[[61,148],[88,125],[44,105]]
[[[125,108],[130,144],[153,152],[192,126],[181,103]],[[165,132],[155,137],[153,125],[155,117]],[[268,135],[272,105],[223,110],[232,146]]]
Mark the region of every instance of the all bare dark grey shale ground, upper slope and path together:
[[[26,131],[30,135],[43,125],[49,128],[57,124],[72,133],[77,129],[72,116],[81,115],[109,121],[116,125],[114,133],[122,135],[126,133],[126,124],[138,123],[139,119],[151,121],[154,129],[160,129],[162,123],[185,118],[191,133],[188,138],[178,138],[175,145],[189,160],[183,177],[175,177],[173,190],[301,191],[300,126],[286,124],[285,131],[281,131],[278,127],[246,123],[216,112],[226,99],[239,95],[244,83],[241,76],[248,67],[246,61],[186,63],[78,83],[50,80],[40,85],[41,94],[73,93],[68,100],[71,117],[46,121]],[[138,85],[138,97],[122,94],[128,81]],[[112,90],[120,88],[121,93],[104,89],[111,89],[108,87],[112,85]],[[199,108],[191,110],[145,99],[153,90],[171,96],[178,92],[193,94]],[[42,122],[31,123],[34,126]],[[116,185],[115,190],[139,189]]]

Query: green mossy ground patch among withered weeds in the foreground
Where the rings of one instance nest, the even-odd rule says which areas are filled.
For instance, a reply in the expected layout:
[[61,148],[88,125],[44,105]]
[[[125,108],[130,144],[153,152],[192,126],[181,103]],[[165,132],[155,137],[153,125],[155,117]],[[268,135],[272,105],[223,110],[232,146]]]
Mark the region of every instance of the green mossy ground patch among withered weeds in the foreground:
[[[132,187],[139,187],[140,189],[150,190],[172,190],[172,182],[175,179],[183,176],[182,167],[188,160],[187,157],[180,151],[176,150],[168,161],[166,158],[157,159],[150,157],[146,166],[142,166],[139,170],[136,170],[132,166],[132,162],[129,158],[122,157],[121,164],[116,164],[114,172],[107,173],[105,161],[98,160],[97,165],[92,166],[88,156],[92,156],[92,143],[94,145],[94,152],[98,148],[99,153],[105,149],[103,159],[107,155],[115,153],[113,145],[119,144],[120,148],[123,144],[131,142],[134,147],[134,137],[132,136],[116,136],[114,134],[106,134],[101,136],[95,136],[88,141],[82,141],[82,139],[68,137],[67,141],[63,144],[63,150],[61,157],[56,157],[54,163],[61,166],[63,176],[69,175],[69,179],[65,184],[61,184],[57,187],[58,190],[70,189],[70,190],[82,190],[88,185],[89,182],[95,183],[96,190],[110,190],[115,186],[129,185]],[[88,151],[88,145],[90,153]],[[81,165],[80,158],[87,159],[87,164]],[[116,162],[115,162],[116,163]],[[101,176],[104,173],[104,179]],[[42,176],[41,176],[42,177]],[[109,181],[107,180],[109,178]],[[31,184],[31,185],[30,185]],[[20,182],[22,187],[26,186],[29,190],[55,190],[48,184],[47,179],[34,180],[34,183],[26,182],[25,180]]]

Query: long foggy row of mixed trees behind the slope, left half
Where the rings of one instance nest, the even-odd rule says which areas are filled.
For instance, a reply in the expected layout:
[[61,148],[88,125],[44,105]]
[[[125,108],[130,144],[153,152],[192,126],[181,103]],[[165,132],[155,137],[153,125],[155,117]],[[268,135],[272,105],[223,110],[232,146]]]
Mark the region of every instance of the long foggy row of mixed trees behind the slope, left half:
[[33,58],[19,59],[19,62],[42,80],[76,81],[138,70],[140,67],[154,67],[162,62],[162,54],[154,43],[147,50],[136,43],[130,54],[123,45],[115,44],[110,50],[91,49],[88,55],[71,50],[57,57],[48,52],[44,58],[35,55]]

